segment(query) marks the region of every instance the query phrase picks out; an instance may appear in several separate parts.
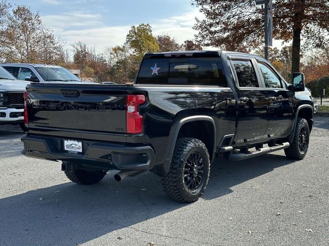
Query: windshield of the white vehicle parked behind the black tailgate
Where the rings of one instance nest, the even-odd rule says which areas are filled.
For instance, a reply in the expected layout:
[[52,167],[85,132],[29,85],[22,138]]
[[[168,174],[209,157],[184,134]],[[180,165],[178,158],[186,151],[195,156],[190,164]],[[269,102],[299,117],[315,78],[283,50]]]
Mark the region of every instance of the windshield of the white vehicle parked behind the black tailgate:
[[45,81],[81,81],[65,68],[36,67],[35,70],[38,71]]

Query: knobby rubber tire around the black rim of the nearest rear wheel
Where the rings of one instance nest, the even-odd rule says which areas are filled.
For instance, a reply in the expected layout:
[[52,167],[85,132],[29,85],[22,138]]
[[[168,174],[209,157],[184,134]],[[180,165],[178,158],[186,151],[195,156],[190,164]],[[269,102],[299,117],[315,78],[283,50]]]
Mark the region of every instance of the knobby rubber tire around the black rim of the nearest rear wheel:
[[[202,179],[196,190],[190,190],[185,182],[184,172],[187,160],[192,154],[200,154],[203,158]],[[181,202],[193,202],[204,193],[210,174],[210,158],[205,144],[196,138],[182,137],[176,141],[171,166],[168,174],[162,176],[162,185],[166,194]]]

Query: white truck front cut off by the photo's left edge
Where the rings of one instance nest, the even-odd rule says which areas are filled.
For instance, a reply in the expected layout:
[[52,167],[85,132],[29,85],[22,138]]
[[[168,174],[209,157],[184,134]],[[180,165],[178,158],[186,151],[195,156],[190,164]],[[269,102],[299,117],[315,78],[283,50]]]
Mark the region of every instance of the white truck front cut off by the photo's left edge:
[[24,91],[29,81],[17,80],[0,67],[0,124],[24,126]]

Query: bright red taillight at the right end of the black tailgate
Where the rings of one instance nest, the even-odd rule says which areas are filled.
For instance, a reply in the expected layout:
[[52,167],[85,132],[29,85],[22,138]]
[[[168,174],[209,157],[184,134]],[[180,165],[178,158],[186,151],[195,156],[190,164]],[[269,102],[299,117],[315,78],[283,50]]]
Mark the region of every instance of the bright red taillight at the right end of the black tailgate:
[[127,133],[143,132],[143,116],[138,113],[138,106],[143,103],[144,95],[127,95]]

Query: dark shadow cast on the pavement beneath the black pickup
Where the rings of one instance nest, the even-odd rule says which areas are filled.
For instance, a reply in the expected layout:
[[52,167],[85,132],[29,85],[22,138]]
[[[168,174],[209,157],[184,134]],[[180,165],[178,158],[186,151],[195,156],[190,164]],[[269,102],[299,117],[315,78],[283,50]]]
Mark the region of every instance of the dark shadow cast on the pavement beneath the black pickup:
[[[217,158],[203,198],[229,194],[290,162],[272,154],[240,162]],[[0,199],[0,245],[76,245],[185,206],[167,198],[159,177],[149,172],[121,182],[105,177],[94,186],[62,183]]]

